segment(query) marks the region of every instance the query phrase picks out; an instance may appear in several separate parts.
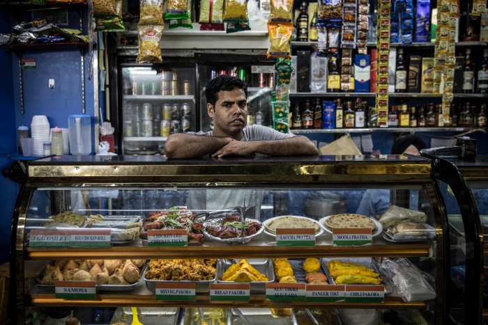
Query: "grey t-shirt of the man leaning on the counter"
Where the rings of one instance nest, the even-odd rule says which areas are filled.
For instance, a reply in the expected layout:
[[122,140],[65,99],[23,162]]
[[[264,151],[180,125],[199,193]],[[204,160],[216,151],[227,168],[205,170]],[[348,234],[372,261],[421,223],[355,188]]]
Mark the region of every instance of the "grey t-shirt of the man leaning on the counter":
[[[188,132],[201,136],[213,136],[209,132]],[[270,127],[262,125],[247,125],[243,129],[241,141],[280,140],[292,138],[293,134],[277,132]],[[215,211],[228,207],[243,206],[244,200],[247,207],[255,206],[257,209],[255,217],[259,219],[261,202],[263,201],[264,190],[262,189],[204,189],[190,190],[188,192],[188,209],[201,211]]]

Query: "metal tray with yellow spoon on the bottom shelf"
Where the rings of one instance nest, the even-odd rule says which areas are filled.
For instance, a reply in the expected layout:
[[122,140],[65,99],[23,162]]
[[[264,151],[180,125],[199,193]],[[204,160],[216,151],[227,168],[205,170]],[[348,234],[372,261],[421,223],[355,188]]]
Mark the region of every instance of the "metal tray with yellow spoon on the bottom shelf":
[[[137,307],[137,318],[144,325],[176,325],[180,308]],[[132,309],[119,307],[115,310],[110,324],[132,324]]]

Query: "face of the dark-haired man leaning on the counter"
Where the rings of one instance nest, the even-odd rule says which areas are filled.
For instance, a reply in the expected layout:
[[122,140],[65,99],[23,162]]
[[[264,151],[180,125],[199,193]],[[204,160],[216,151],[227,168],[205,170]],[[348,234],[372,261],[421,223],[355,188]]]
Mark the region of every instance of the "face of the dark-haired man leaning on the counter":
[[[247,120],[247,99],[244,90],[220,90],[215,106],[207,104],[208,116],[213,118],[214,136],[232,136],[241,139]],[[237,136],[237,137],[236,137]]]

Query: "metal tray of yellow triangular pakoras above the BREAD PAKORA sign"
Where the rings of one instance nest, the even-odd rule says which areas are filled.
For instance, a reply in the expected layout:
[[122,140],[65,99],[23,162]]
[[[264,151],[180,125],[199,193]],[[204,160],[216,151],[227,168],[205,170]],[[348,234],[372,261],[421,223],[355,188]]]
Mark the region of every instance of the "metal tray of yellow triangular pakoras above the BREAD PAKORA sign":
[[[218,260],[217,261],[217,283],[249,283],[251,292],[266,292],[266,283],[272,283],[275,281],[275,270],[273,269],[273,260],[271,259],[246,259],[249,264],[257,269],[261,274],[264,274],[268,281],[259,281],[259,282],[234,282],[234,281],[224,281],[222,280],[222,276],[224,272],[231,267],[232,263],[229,260]],[[236,260],[239,262],[239,260]]]

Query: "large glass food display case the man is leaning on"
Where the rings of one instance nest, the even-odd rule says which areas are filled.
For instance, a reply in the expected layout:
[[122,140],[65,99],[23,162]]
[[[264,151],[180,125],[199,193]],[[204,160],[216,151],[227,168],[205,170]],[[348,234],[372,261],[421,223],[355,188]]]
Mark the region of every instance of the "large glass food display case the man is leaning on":
[[[168,324],[176,324],[170,321],[175,318],[194,324],[195,315],[211,312],[206,308],[220,308],[231,318],[261,315],[252,324],[275,324],[273,315],[283,324],[304,324],[296,322],[297,315],[307,317],[302,308],[334,314],[343,323],[363,317],[371,324],[399,324],[406,317],[446,324],[448,229],[431,168],[427,159],[404,156],[31,161],[13,220],[14,323],[32,322],[33,315],[53,308],[89,322],[110,308],[106,318],[113,323],[114,315],[136,307],[139,315],[159,313]],[[381,193],[390,206],[387,217],[356,215],[366,191]],[[336,224],[344,219],[351,223]],[[418,223],[422,232],[392,231],[406,221]],[[168,259],[183,260],[167,266]],[[163,269],[186,274],[181,268],[193,265],[187,259],[203,261],[197,269],[207,271],[190,278],[162,276]],[[33,264],[38,276],[27,278]],[[247,278],[238,280],[229,270],[242,264]],[[335,264],[367,275],[335,274]],[[418,283],[402,287],[398,276],[408,272],[395,273],[392,265],[418,274]],[[282,288],[279,281],[299,293],[287,299],[273,294]],[[242,290],[244,299],[226,300],[215,284],[249,291]],[[175,285],[190,297],[163,294]],[[80,287],[90,295],[74,294]],[[338,292],[342,299],[317,301],[306,298],[307,291]]]

